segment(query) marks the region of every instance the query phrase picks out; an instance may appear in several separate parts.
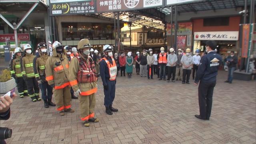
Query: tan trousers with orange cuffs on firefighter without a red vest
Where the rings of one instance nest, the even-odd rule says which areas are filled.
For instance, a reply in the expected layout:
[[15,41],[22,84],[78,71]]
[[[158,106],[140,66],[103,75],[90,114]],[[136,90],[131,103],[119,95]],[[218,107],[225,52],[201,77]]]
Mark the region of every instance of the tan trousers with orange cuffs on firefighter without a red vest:
[[71,108],[70,86],[57,90],[54,88],[53,93],[58,111]]

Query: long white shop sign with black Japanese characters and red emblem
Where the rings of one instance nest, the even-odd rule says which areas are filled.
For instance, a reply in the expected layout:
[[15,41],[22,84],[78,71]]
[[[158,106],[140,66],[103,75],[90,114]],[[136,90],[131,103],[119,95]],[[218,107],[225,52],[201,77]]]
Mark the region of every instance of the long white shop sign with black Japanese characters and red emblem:
[[238,40],[238,31],[194,32],[194,40]]

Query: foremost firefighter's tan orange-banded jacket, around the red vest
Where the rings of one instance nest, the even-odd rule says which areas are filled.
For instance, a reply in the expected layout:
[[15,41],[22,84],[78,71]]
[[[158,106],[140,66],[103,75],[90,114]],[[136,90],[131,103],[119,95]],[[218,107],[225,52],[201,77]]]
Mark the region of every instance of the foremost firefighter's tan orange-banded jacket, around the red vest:
[[[81,54],[79,54],[79,57],[83,60],[84,63],[86,63],[86,66],[92,65],[94,61],[92,58],[89,56],[87,59],[84,58]],[[70,80],[70,85],[72,86],[74,91],[77,91],[80,89],[82,92],[80,95],[81,96],[88,96],[91,94],[94,94],[97,92],[97,84],[96,82],[86,82],[86,83],[78,83],[78,71],[82,70],[78,58],[73,58],[70,62],[70,68],[69,68],[69,80]],[[89,72],[93,71],[95,72],[95,65],[91,67],[91,70],[89,69]],[[94,75],[96,76],[96,75]]]

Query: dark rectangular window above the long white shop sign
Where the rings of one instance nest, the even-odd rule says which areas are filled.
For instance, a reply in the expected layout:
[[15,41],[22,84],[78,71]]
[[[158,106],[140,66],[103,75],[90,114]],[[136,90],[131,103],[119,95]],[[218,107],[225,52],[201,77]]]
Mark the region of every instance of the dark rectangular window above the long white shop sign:
[[229,26],[229,17],[204,18],[204,26]]

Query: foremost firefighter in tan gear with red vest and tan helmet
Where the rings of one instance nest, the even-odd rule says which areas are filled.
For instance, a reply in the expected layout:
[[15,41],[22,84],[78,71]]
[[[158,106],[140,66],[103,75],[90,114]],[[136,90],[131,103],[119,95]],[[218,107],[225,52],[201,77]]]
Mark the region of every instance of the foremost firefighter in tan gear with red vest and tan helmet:
[[94,61],[90,57],[90,48],[88,39],[80,40],[77,46],[79,54],[71,60],[69,68],[70,84],[74,95],[78,96],[80,117],[86,127],[90,126],[89,122],[99,122],[94,118],[97,74]]

